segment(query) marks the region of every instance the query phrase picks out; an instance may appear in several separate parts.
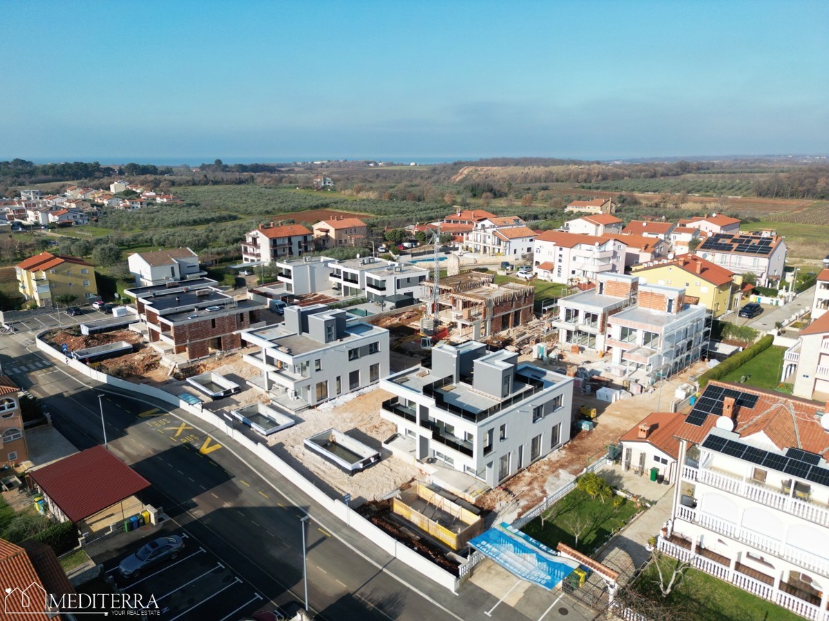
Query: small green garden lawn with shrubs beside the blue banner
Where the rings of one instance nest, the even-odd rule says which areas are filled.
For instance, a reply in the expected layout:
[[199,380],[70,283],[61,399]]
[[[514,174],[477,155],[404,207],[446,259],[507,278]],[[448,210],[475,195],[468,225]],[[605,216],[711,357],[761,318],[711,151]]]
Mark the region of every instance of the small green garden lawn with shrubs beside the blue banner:
[[[613,498],[621,498],[623,503],[618,508],[614,507]],[[581,490],[574,489],[545,513],[543,526],[541,517],[536,517],[522,530],[553,549],[558,542],[564,542],[590,554],[638,511],[636,503],[621,496],[613,498],[603,503],[599,498],[592,499]],[[577,546],[575,532],[579,531]]]

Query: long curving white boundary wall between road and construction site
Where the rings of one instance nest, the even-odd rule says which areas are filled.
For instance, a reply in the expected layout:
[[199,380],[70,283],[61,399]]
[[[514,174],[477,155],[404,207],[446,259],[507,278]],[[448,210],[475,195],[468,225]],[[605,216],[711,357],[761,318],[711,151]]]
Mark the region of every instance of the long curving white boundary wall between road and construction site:
[[[42,334],[43,333],[41,333],[41,335]],[[65,355],[61,354],[61,352],[56,349],[53,349],[50,345],[41,340],[41,335],[37,335],[35,339],[37,349],[40,349],[41,352],[48,355],[52,359],[55,359],[57,362],[64,363],[66,358]],[[232,437],[236,442],[242,445],[245,450],[249,450],[251,453],[257,455],[271,468],[284,476],[285,479],[288,479],[288,481],[292,484],[303,490],[304,493],[308,494],[308,496],[310,496],[315,503],[318,503],[322,506],[322,508],[326,509],[327,512],[342,520],[342,522],[345,522],[348,527],[351,527],[356,530],[356,532],[359,532],[363,537],[366,537],[366,539],[374,543],[376,546],[379,546],[381,550],[385,551],[386,554],[394,556],[396,559],[404,562],[412,569],[419,571],[421,574],[429,578],[429,580],[434,580],[434,582],[444,586],[448,590],[455,592],[458,589],[458,586],[460,586],[462,582],[461,579],[456,578],[447,570],[444,570],[442,567],[428,561],[424,558],[424,556],[420,556],[416,551],[405,546],[403,543],[398,542],[394,537],[390,537],[379,527],[376,527],[374,524],[366,520],[365,517],[362,517],[353,509],[348,508],[342,500],[327,496],[326,493],[318,489],[311,481],[306,479],[297,470],[293,469],[290,465],[279,459],[279,457],[271,452],[267,446],[256,444],[240,434],[234,434],[233,429],[227,425],[226,421],[222,419],[221,416],[216,416],[216,414],[207,410],[202,411],[200,407],[191,406],[189,403],[183,402],[176,395],[165,392],[160,388],[147,386],[145,384],[127,382],[123,379],[113,378],[106,373],[100,373],[99,371],[95,371],[95,369],[88,367],[84,363],[81,363],[79,360],[70,359],[68,366],[97,382],[105,383],[109,386],[117,388],[123,388],[124,390],[131,392],[138,392],[138,394],[146,397],[154,397],[163,402],[169,403],[172,407],[180,407],[182,410],[190,412],[193,416],[198,417],[201,421],[205,421],[206,423],[215,426],[226,435]],[[472,559],[470,559],[470,561],[471,560]],[[468,568],[467,570],[463,570],[466,565],[470,565],[470,563],[468,562],[462,566],[462,576],[468,574]]]

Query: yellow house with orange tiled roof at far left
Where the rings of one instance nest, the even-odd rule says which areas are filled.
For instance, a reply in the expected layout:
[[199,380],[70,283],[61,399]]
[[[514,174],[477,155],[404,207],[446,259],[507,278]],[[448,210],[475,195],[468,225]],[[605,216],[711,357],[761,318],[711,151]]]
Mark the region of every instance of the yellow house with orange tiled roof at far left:
[[37,306],[56,306],[61,295],[75,296],[77,303],[98,297],[95,270],[76,257],[40,253],[15,266],[20,292]]

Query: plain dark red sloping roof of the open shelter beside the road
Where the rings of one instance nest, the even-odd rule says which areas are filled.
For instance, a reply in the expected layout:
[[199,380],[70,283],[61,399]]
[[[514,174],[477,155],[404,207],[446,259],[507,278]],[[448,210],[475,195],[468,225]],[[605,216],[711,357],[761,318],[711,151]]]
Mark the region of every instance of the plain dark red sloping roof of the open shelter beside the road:
[[150,486],[103,446],[93,446],[30,473],[72,522],[94,515]]

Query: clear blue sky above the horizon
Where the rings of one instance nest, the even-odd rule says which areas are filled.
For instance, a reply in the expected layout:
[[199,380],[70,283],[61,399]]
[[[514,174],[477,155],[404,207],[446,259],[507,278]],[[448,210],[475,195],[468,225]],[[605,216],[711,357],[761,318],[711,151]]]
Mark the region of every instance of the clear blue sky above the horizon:
[[826,154],[829,2],[0,2],[0,160]]

